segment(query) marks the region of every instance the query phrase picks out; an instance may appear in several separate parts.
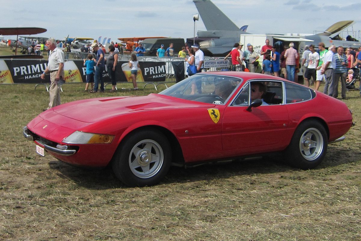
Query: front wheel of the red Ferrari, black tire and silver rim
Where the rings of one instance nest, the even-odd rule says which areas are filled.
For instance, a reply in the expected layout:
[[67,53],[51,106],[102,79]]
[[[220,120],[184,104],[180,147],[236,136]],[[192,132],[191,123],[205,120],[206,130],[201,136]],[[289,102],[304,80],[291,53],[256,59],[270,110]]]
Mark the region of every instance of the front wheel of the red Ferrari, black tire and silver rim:
[[166,175],[171,163],[168,139],[157,130],[127,136],[112,160],[114,174],[127,186],[152,186]]

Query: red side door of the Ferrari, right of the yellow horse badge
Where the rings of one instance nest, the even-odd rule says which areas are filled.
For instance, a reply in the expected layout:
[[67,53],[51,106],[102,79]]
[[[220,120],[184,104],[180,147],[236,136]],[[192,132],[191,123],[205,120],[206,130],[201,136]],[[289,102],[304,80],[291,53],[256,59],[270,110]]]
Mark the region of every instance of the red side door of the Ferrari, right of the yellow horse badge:
[[[249,88],[249,84],[246,85]],[[281,83],[279,88],[277,98],[282,101]],[[278,103],[262,104],[251,111],[247,111],[247,108],[248,103],[231,104],[225,108],[222,119],[223,150],[243,149],[240,154],[250,154],[279,148],[278,143],[282,143],[288,129],[287,107]]]

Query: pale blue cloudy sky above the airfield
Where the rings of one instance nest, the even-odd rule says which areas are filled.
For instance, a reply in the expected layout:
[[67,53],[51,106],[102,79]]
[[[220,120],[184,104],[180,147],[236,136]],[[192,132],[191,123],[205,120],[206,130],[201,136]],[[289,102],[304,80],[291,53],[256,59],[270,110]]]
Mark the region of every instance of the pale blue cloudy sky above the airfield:
[[[99,36],[117,38],[136,36],[193,37],[192,0],[28,0],[4,1],[1,4],[1,27],[42,27],[45,33],[35,36],[64,39]],[[59,2],[57,2],[59,3]],[[249,25],[252,34],[310,33],[323,31],[333,23],[354,20],[348,30],[361,38],[359,1],[285,0],[240,1],[213,0],[238,27]],[[350,17],[352,16],[352,17]],[[196,29],[206,30],[201,19]],[[1,34],[1,33],[0,33]],[[346,35],[345,35],[346,36]],[[344,37],[345,37],[344,36]],[[16,36],[10,36],[12,39]],[[5,39],[10,38],[4,36]]]

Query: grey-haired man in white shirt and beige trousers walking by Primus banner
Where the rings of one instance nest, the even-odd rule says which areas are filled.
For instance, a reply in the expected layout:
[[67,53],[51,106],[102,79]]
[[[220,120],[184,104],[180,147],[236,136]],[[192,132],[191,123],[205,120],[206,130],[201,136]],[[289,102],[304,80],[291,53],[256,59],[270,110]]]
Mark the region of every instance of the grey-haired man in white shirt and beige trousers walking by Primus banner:
[[[45,79],[45,74],[50,73],[49,96],[50,102],[47,109],[60,105],[60,90],[56,84],[60,78],[64,77],[64,52],[56,47],[55,39],[51,38],[45,44],[49,50],[48,66],[40,76]],[[47,109],[44,109],[47,110]]]

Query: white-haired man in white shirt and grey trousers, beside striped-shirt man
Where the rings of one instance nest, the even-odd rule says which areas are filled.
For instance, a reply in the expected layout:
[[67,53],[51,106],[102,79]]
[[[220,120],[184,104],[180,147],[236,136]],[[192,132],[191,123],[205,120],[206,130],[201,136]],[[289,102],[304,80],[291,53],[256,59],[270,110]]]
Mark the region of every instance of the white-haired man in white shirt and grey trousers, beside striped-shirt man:
[[336,47],[332,44],[329,47],[329,51],[323,57],[323,65],[321,67],[321,74],[324,73],[326,77],[323,93],[329,96],[333,96],[335,86],[334,70],[336,68],[336,59],[334,58],[334,53],[336,53]]

